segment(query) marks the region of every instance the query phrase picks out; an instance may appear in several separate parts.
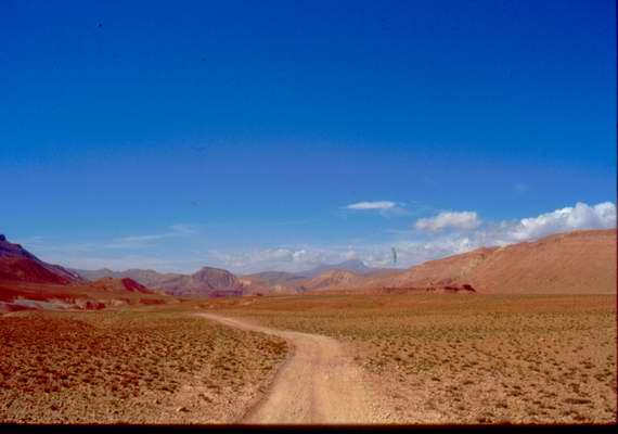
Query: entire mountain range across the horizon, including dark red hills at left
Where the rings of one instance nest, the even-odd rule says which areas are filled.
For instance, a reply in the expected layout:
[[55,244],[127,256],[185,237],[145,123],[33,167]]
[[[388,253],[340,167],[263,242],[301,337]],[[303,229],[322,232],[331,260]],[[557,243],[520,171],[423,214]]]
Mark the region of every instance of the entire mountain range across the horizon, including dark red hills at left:
[[204,267],[192,275],[154,270],[69,270],[48,264],[0,235],[0,310],[61,306],[101,308],[171,303],[173,296],[298,293],[616,293],[616,230],[559,233],[535,242],[482,247],[404,270],[360,260],[302,273],[265,271],[236,277]]

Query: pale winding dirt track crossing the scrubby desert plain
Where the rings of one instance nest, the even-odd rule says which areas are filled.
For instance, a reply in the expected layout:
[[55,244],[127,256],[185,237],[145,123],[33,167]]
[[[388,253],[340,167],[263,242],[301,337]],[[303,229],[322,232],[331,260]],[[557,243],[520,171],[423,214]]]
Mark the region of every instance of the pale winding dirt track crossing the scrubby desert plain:
[[379,422],[363,376],[342,344],[319,334],[269,329],[213,314],[201,316],[242,330],[285,339],[292,354],[242,423]]

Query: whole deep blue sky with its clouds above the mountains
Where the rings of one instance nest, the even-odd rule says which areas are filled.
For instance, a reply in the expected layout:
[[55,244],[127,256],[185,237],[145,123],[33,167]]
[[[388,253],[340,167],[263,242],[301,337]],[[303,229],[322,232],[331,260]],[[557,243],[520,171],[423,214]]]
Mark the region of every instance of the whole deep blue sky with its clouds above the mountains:
[[529,237],[613,227],[615,15],[4,1],[0,231],[68,266],[241,272],[387,265],[394,245],[409,266],[542,215]]

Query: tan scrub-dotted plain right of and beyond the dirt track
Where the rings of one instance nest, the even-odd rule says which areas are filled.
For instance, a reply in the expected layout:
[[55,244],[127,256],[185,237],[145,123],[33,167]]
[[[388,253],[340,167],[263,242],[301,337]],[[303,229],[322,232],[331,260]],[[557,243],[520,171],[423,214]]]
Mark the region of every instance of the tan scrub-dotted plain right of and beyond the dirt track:
[[330,336],[383,423],[616,421],[616,297],[282,296],[203,305]]

